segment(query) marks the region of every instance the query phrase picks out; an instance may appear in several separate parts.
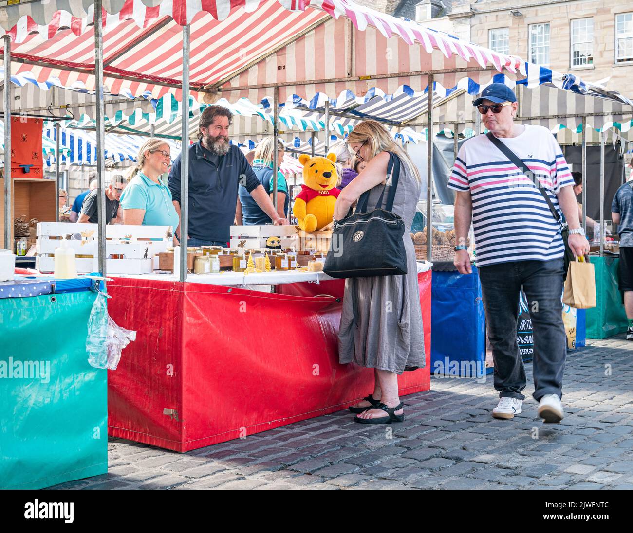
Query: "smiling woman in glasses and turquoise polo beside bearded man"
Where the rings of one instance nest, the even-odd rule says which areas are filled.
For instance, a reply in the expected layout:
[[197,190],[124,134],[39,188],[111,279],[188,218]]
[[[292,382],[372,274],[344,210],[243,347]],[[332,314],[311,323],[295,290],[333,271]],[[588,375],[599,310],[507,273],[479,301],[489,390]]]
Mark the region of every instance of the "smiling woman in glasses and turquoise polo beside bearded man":
[[137,161],[121,195],[123,224],[172,226],[175,231],[180,221],[166,183],[172,161],[169,145],[161,139],[149,139],[139,150]]

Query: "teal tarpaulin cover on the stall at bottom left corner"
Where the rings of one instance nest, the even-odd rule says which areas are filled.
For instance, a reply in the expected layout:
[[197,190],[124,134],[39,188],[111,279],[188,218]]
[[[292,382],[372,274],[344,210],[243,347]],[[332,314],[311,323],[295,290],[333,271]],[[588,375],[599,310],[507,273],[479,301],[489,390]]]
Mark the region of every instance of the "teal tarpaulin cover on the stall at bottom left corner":
[[0,488],[107,472],[107,371],[85,349],[96,297],[0,299]]

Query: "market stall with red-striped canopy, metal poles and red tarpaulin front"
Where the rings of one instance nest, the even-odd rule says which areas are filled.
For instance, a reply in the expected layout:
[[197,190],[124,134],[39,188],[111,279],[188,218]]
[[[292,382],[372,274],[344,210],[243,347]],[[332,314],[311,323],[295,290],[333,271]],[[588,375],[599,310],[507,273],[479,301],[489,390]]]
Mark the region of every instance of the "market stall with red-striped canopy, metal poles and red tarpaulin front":
[[[453,89],[464,84],[470,87],[472,83],[484,86],[495,73],[505,73],[508,78],[525,80],[533,86],[539,84],[542,73],[540,66],[524,63],[515,56],[499,54],[346,0],[291,6],[274,0],[165,0],[152,7],[139,0],[97,1],[85,11],[84,5],[87,6],[73,4],[76,12],[68,13],[63,11],[71,9],[68,3],[53,0],[42,9],[30,10],[30,16],[22,20],[23,6],[3,7],[6,17],[2,20],[8,31],[4,59],[11,65],[5,77],[15,67],[16,72],[29,72],[39,80],[54,76],[62,85],[80,82],[86,90],[94,90],[102,200],[104,87],[110,94],[128,97],[151,95],[160,99],[173,94],[180,101],[180,116],[185,118],[180,125],[180,138],[184,140],[191,138],[192,133],[190,93],[195,102],[212,103],[222,97],[233,103],[241,97],[248,97],[251,102],[266,100],[269,105],[272,102],[271,133],[275,138],[280,135],[280,107],[285,102],[315,101],[315,111],[320,111],[322,102],[327,151],[330,113],[338,113],[330,107],[334,107],[332,99],[337,95],[344,95],[342,101],[349,92],[356,99],[367,95],[370,100],[380,90],[384,95],[413,94],[420,102],[426,98],[427,128],[433,132],[437,87]],[[61,20],[72,23],[68,27]],[[256,34],[253,28],[257,28]],[[54,49],[54,54],[47,52],[49,49]],[[389,51],[389,61],[384,51]],[[433,136],[429,137],[427,169],[432,168],[433,159]],[[184,150],[182,157],[185,174],[187,153]],[[276,179],[276,173],[273,176]],[[187,185],[188,181],[182,180],[184,234]],[[9,195],[10,190],[6,193]],[[432,198],[432,180],[427,180],[427,197]],[[428,202],[427,219],[431,219],[431,206],[432,202]],[[268,294],[235,286],[225,288],[218,285],[216,277],[211,278],[215,283],[203,285],[197,280],[204,277],[187,275],[187,254],[181,254],[178,276],[120,278],[108,266],[104,217],[99,218],[101,228],[95,245],[99,271],[108,271],[115,277],[109,286],[113,295],[111,313],[122,326],[139,329],[139,340],[127,349],[121,374],[117,371],[111,382],[113,434],[125,433],[128,438],[146,439],[173,449],[191,449],[235,438],[241,429],[248,434],[287,420],[341,409],[367,394],[371,372],[341,369],[336,363],[335,331],[340,302],[336,298],[333,302],[332,295],[290,295],[284,290]],[[427,236],[430,259],[432,224],[427,224]],[[418,280],[427,333],[425,343],[430,343],[428,268],[418,274]],[[265,281],[266,285],[280,285]],[[328,290],[335,290],[335,286]],[[304,286],[295,291],[310,292]],[[236,297],[241,298],[239,303],[244,302],[246,309],[254,308],[253,314],[238,314]],[[225,323],[225,318],[232,320]],[[204,326],[202,331],[198,325]],[[284,334],[284,328],[290,334]],[[315,348],[313,341],[321,346]],[[222,353],[216,346],[224,348]],[[326,353],[323,346],[327,346]],[[426,353],[428,357],[430,344]],[[268,361],[280,369],[274,376],[266,372],[263,362]],[[310,372],[317,371],[316,365],[320,373],[305,374],[306,365]],[[401,389],[412,392],[429,388],[428,372],[427,366],[405,374]],[[223,374],[229,379],[224,379]],[[318,377],[323,379],[313,379]],[[339,382],[348,388],[337,388]],[[263,395],[261,385],[269,383],[274,385],[275,398],[283,401],[275,400],[271,405],[270,388]],[[294,384],[298,384],[296,390]],[[259,401],[251,401],[251,395]]]

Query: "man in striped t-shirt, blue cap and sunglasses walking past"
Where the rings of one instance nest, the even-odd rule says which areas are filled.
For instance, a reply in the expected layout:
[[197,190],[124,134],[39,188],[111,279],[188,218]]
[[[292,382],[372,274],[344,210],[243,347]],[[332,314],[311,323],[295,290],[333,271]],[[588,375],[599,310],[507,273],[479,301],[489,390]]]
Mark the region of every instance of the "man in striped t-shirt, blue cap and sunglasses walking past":
[[574,255],[589,253],[573,194],[573,179],[555,138],[542,126],[515,125],[518,104],[503,83],[492,83],[474,102],[487,130],[528,166],[523,176],[486,135],[465,142],[457,154],[449,188],[456,190],[454,224],[458,246],[454,264],[470,274],[465,242],[472,220],[477,269],[482,286],[488,338],[494,358],[494,388],[499,405],[492,416],[511,419],[522,411],[526,386],[517,345],[521,288],[529,303],[534,331],[534,398],[539,417],[560,422],[567,337],[563,327],[565,246],[548,203],[548,194],[570,228]]

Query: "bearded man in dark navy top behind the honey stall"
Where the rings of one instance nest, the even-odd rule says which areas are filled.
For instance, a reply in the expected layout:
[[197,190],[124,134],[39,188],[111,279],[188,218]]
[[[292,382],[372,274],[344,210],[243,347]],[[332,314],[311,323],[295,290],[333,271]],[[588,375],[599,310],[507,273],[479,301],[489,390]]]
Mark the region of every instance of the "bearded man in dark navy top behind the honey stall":
[[[240,183],[273,221],[288,224],[279,216],[268,192],[237,145],[229,144],[232,113],[222,106],[204,109],[198,126],[198,142],[189,146],[188,246],[226,246],[235,218]],[[180,160],[173,162],[168,187],[180,217]],[[182,243],[180,226],[176,236]]]

